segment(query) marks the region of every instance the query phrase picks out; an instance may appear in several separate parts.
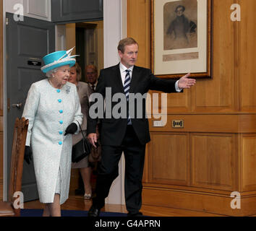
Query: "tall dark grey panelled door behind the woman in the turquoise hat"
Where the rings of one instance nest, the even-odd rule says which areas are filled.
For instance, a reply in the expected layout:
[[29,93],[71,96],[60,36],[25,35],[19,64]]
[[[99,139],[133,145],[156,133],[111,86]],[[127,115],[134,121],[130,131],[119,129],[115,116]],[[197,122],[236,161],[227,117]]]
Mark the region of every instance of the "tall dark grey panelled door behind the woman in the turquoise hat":
[[[33,82],[45,78],[42,57],[55,50],[55,26],[51,22],[24,17],[15,22],[7,13],[7,152],[8,172],[15,118],[21,117],[27,92]],[[9,182],[9,173],[8,173]],[[22,192],[25,201],[38,199],[33,162],[24,162]]]

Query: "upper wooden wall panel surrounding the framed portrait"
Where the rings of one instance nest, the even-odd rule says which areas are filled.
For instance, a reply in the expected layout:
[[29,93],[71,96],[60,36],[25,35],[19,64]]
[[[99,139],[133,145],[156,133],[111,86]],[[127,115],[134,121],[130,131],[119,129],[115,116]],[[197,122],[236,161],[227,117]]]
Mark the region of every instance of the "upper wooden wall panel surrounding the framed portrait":
[[[230,19],[230,6],[233,3],[234,0],[213,1],[213,79],[198,79],[192,89],[181,94],[169,94],[168,113],[236,110],[238,99],[234,95],[235,84],[238,83],[234,79],[235,27]],[[150,17],[146,10],[149,11],[149,1],[127,1],[127,35],[135,38],[140,45],[137,65],[149,67]]]

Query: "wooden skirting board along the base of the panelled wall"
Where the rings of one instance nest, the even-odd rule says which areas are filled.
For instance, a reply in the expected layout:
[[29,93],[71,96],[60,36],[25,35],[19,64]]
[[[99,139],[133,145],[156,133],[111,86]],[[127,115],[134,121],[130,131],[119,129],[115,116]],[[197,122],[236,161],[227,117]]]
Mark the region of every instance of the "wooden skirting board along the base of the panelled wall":
[[[247,193],[246,196],[243,194],[240,196],[239,204],[238,198],[232,198],[230,195],[144,187],[142,190],[142,204],[228,216],[251,216],[256,214],[256,195]],[[240,207],[240,209],[235,207]]]

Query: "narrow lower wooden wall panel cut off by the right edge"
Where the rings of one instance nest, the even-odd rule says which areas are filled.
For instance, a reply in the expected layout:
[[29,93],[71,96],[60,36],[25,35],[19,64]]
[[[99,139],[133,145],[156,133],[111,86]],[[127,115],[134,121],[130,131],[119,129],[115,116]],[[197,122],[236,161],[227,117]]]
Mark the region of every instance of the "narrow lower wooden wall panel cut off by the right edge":
[[242,190],[256,190],[256,134],[242,135]]

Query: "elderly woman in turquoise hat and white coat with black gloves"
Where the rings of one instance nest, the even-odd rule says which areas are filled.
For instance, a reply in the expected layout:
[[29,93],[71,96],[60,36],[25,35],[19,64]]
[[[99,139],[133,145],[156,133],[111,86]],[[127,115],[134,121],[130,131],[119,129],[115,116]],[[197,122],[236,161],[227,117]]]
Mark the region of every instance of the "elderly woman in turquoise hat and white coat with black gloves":
[[[41,70],[47,79],[31,85],[23,115],[29,119],[25,157],[33,152],[35,178],[43,216],[59,217],[61,204],[69,196],[72,135],[82,123],[79,96],[68,82],[75,58],[69,51],[56,51],[43,57]],[[31,147],[31,149],[30,149]]]

